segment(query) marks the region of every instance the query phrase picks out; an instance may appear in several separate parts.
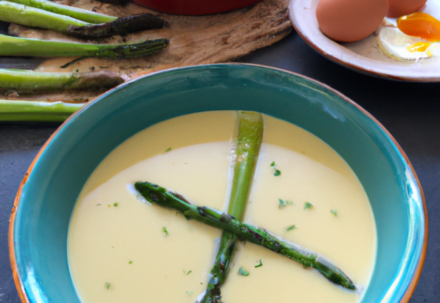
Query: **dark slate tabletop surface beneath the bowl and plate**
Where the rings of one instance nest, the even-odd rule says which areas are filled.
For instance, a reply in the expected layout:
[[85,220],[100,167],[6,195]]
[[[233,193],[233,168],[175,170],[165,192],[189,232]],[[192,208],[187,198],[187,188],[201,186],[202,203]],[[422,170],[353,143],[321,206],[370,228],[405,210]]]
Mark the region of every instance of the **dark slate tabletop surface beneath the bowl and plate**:
[[[419,176],[430,218],[428,253],[410,303],[440,298],[440,84],[403,83],[359,74],[323,58],[293,32],[283,41],[241,62],[283,68],[309,76],[342,92],[373,114],[406,152]],[[34,59],[0,67],[32,68]],[[8,257],[8,223],[21,179],[57,125],[0,124],[0,302],[18,303]]]

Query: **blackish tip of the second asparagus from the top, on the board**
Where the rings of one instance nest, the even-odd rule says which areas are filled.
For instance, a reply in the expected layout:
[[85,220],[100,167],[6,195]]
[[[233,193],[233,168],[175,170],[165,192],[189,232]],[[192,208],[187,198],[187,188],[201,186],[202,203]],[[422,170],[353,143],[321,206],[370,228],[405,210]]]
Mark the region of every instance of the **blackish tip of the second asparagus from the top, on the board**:
[[130,32],[155,30],[164,27],[164,19],[146,12],[133,16],[120,17],[115,21],[96,25],[74,25],[69,27],[69,33],[86,39],[105,38],[119,34],[125,36]]

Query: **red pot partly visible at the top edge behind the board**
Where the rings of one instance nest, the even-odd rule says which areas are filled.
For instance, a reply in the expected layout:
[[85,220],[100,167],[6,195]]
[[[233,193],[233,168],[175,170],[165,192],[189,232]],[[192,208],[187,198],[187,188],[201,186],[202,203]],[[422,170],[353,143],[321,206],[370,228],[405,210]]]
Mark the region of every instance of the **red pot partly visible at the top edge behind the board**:
[[218,14],[245,8],[262,0],[132,0],[134,3],[166,14]]

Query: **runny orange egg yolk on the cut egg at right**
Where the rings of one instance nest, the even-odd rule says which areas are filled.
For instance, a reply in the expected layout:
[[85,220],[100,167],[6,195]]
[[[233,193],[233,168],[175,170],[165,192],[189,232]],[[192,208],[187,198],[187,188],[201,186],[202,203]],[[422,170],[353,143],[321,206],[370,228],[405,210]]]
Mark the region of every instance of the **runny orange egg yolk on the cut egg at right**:
[[[408,36],[417,36],[431,42],[440,41],[440,21],[424,12],[415,12],[400,17],[397,19],[397,28]],[[421,52],[422,50],[415,51]]]

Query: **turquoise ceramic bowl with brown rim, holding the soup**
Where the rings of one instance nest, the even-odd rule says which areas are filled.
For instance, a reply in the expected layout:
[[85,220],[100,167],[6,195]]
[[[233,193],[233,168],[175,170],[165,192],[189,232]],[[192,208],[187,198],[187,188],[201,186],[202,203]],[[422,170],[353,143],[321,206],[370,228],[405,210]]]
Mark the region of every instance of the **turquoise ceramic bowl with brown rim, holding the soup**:
[[69,219],[87,178],[112,149],[159,121],[223,109],[294,123],[347,161],[377,226],[377,262],[362,302],[407,302],[423,267],[428,219],[404,152],[371,115],[331,88],[242,64],[184,67],[124,83],[58,129],[36,156],[12,212],[11,260],[23,302],[80,302],[67,264]]

